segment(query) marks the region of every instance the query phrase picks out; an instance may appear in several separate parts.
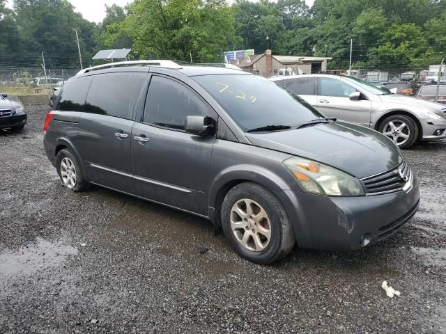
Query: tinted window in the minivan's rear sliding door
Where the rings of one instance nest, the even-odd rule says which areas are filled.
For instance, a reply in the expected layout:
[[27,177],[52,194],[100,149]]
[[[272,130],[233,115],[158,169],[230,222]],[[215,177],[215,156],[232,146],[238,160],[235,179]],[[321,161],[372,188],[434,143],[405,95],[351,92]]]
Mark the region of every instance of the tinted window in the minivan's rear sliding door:
[[86,97],[85,112],[134,119],[147,73],[96,74]]

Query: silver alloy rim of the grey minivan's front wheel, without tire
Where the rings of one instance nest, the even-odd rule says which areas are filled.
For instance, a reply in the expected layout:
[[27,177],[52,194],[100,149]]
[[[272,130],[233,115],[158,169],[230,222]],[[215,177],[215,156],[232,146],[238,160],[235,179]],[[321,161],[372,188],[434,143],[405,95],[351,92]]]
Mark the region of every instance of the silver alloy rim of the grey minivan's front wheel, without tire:
[[254,200],[243,198],[232,206],[231,230],[240,245],[247,250],[260,252],[270,244],[270,218]]

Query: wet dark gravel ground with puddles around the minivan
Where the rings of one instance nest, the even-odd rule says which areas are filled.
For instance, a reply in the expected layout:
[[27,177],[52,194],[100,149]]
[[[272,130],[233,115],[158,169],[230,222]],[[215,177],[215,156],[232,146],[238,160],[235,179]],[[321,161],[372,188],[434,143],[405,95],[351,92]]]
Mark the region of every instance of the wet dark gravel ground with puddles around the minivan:
[[201,218],[64,189],[43,151],[47,111],[0,132],[0,333],[446,333],[446,143],[403,152],[422,202],[399,233],[262,267]]

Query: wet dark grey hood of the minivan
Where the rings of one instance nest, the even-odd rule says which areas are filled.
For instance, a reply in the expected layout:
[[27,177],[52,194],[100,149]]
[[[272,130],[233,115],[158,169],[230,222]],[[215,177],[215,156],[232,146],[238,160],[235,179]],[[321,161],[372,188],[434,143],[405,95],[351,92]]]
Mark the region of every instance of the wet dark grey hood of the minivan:
[[348,122],[246,136],[253,145],[319,161],[358,178],[383,173],[403,161],[390,138]]

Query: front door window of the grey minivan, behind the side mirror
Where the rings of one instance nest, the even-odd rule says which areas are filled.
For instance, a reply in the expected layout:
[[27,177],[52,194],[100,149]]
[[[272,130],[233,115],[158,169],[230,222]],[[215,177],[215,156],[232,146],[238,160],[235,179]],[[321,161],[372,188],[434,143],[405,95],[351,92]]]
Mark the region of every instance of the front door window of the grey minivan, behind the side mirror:
[[207,116],[208,106],[177,81],[154,76],[148,88],[144,122],[185,129],[187,116]]

